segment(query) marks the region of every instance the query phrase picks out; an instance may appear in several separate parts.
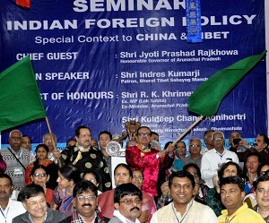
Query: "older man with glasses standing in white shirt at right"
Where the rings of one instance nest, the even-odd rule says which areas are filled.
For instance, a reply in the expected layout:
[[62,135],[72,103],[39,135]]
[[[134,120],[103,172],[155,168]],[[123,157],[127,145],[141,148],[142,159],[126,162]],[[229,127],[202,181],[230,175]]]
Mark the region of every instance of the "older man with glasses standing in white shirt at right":
[[222,163],[233,161],[239,164],[238,155],[230,150],[224,149],[225,138],[222,132],[212,134],[214,149],[204,153],[201,161],[201,173],[205,184],[213,188],[213,176],[217,175]]

